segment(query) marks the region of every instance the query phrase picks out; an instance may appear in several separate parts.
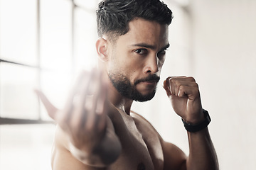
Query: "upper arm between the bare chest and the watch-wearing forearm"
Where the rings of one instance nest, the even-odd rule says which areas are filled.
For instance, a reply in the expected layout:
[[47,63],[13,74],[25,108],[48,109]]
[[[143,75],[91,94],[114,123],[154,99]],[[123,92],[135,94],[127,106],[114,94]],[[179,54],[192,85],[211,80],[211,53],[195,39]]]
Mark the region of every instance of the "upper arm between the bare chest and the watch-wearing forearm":
[[176,145],[161,142],[164,153],[164,170],[186,170],[186,154]]

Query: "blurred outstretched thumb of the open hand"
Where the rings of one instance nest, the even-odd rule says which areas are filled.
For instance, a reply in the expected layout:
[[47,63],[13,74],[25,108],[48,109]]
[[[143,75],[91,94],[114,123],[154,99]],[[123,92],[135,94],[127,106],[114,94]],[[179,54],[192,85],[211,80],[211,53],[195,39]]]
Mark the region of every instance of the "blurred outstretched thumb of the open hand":
[[50,116],[50,118],[53,118],[55,120],[55,115],[58,111],[58,108],[56,108],[55,106],[53,106],[52,103],[50,103],[50,101],[48,100],[48,98],[46,97],[45,94],[43,94],[42,91],[35,89],[34,90],[36,95],[38,96],[38,98],[41,99],[43,106],[45,106],[46,111],[48,113],[48,115]]

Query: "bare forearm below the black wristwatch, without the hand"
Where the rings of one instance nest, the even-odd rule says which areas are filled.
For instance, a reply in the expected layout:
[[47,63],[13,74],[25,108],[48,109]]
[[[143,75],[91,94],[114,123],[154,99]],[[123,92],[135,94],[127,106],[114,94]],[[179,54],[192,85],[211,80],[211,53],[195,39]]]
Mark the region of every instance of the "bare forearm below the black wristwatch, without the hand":
[[218,170],[218,159],[208,128],[198,132],[188,132],[188,142],[187,170]]

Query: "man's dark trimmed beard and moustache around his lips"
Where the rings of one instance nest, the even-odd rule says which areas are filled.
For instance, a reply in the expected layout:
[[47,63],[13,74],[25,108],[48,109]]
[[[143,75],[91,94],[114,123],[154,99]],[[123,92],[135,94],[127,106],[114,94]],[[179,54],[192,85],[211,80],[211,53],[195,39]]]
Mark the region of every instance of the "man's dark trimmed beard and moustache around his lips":
[[151,100],[156,94],[156,87],[151,93],[143,95],[137,91],[135,86],[142,81],[158,82],[160,79],[160,77],[156,76],[156,74],[150,74],[149,77],[146,77],[145,79],[138,79],[134,82],[134,84],[132,84],[131,81],[129,81],[129,79],[124,76],[124,74],[109,73],[108,76],[112,82],[112,85],[115,89],[117,89],[119,94],[121,94],[123,97],[140,102]]

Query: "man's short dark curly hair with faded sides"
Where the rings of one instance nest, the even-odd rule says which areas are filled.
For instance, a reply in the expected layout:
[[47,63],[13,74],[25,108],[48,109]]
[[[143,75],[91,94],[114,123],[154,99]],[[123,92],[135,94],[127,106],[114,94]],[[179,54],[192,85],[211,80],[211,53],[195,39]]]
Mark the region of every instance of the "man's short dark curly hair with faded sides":
[[129,31],[129,21],[134,18],[144,18],[167,24],[172,21],[172,12],[166,4],[159,0],[103,0],[97,13],[97,33],[110,35],[110,40],[116,40]]

